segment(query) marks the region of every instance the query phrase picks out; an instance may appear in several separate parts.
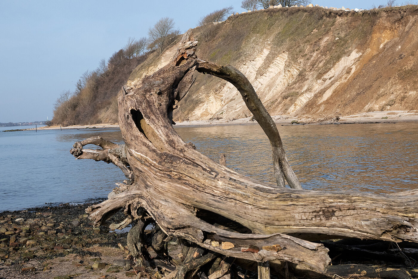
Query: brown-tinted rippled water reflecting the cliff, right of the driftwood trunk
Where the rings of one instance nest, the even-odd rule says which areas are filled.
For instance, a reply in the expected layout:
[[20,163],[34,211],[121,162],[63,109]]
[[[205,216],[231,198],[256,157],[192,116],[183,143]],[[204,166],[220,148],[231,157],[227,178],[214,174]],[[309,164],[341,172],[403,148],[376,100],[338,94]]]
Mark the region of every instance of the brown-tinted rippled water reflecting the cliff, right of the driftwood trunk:
[[[375,193],[418,187],[418,123],[278,126],[305,189]],[[215,161],[275,183],[270,143],[258,125],[176,128]]]

